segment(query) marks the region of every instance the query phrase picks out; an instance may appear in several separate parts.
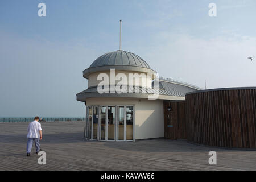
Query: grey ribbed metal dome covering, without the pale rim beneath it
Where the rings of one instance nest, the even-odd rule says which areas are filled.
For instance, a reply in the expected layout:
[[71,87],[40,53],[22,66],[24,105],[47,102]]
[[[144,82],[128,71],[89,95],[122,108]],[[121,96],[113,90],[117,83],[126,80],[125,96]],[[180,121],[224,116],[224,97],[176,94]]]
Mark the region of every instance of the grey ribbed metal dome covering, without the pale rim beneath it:
[[95,61],[93,61],[89,68],[100,67],[104,65],[133,65],[151,69],[146,61],[144,61],[138,55],[135,55],[135,53],[120,50],[101,55]]

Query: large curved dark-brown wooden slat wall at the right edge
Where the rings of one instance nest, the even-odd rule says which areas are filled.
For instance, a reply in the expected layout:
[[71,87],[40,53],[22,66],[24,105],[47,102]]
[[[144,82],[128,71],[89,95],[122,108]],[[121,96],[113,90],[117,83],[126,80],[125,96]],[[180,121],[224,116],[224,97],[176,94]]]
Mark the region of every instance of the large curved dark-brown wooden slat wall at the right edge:
[[185,107],[189,142],[256,148],[256,89],[194,92]]

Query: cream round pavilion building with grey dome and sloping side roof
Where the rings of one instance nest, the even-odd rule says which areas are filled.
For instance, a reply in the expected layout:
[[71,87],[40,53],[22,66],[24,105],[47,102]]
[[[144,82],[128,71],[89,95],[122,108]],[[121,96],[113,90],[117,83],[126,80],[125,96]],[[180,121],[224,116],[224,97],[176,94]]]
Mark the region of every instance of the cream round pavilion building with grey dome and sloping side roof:
[[[104,75],[110,79],[102,88],[116,88],[118,75],[125,78],[121,92],[99,92]],[[139,77],[129,77],[139,75]],[[146,75],[146,77],[141,77]],[[151,75],[151,76],[148,76]],[[83,72],[88,89],[77,93],[85,102],[85,137],[92,140],[134,141],[164,137],[163,102],[185,100],[185,94],[200,90],[185,82],[158,77],[140,56],[127,51],[108,52],[98,57]],[[100,79],[99,79],[100,78]],[[156,99],[152,96],[158,94]]]

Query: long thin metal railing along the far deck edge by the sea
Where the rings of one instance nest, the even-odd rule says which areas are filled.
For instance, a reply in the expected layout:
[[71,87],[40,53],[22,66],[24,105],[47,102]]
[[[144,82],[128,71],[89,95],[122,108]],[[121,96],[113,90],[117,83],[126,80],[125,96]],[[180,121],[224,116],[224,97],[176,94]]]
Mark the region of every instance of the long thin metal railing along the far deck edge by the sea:
[[[31,122],[34,121],[34,118],[0,118],[1,122]],[[85,118],[42,118],[40,122],[56,122],[56,121],[86,121]]]

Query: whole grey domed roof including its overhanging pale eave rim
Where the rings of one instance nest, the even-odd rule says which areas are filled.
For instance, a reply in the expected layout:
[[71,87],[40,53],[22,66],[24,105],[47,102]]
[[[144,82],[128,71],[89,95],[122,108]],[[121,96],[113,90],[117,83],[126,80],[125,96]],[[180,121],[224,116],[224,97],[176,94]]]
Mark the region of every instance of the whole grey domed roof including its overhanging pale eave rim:
[[[134,71],[143,73],[156,73],[150,66],[135,53],[127,51],[108,52],[98,57],[89,68],[85,69],[83,75],[88,79],[90,73],[107,71],[110,69]],[[155,76],[154,76],[155,77]]]

